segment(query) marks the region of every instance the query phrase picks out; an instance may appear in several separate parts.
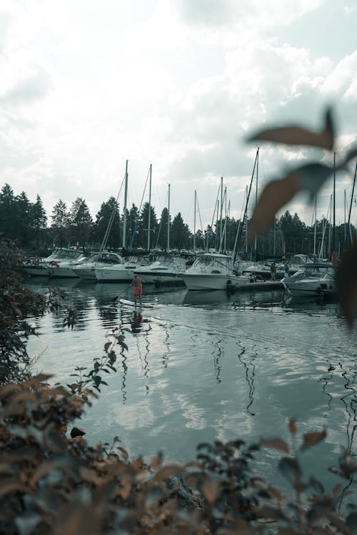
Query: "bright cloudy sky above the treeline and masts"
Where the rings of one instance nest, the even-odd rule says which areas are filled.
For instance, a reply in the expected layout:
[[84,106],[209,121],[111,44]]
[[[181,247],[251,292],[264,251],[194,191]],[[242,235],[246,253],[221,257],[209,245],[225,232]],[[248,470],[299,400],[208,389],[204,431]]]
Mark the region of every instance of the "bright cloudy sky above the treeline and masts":
[[[336,123],[336,161],[357,142],[355,0],[0,0],[0,187],[49,223],[54,205],[84,198],[92,217],[119,195],[168,205],[193,230],[213,220],[223,177],[240,218],[264,126]],[[259,145],[251,205],[294,162],[333,153]],[[336,176],[336,223],[351,202],[356,162]],[[328,216],[333,180],[318,195]],[[357,192],[355,192],[357,193]],[[352,223],[357,221],[353,202]],[[298,195],[282,211],[313,222]],[[223,210],[224,211],[224,210]]]

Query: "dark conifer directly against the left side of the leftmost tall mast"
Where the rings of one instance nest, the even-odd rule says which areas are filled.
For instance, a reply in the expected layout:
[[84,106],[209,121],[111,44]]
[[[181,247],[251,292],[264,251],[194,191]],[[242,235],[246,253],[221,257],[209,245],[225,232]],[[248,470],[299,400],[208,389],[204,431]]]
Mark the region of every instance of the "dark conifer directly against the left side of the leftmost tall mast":
[[101,204],[96,214],[91,237],[96,243],[103,243],[104,247],[118,248],[120,241],[120,215],[119,204],[114,197],[110,197],[106,203]]

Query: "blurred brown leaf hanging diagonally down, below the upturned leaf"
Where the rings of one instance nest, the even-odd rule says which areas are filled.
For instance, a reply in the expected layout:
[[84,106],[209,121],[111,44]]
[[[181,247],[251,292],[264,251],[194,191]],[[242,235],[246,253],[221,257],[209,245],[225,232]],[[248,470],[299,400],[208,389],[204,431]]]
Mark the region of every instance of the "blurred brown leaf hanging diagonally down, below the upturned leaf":
[[276,213],[288,203],[300,190],[298,178],[289,173],[285,178],[269,182],[254,208],[250,225],[250,239],[266,228],[275,218]]

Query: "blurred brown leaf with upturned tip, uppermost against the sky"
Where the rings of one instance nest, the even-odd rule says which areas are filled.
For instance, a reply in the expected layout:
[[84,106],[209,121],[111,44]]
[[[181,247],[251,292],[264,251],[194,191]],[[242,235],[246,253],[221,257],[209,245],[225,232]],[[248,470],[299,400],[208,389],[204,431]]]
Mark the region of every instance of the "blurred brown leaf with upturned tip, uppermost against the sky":
[[283,126],[281,128],[266,128],[258,131],[247,141],[272,141],[286,145],[308,145],[326,148],[331,151],[334,143],[333,121],[331,108],[325,113],[325,124],[321,132],[312,132],[300,126]]

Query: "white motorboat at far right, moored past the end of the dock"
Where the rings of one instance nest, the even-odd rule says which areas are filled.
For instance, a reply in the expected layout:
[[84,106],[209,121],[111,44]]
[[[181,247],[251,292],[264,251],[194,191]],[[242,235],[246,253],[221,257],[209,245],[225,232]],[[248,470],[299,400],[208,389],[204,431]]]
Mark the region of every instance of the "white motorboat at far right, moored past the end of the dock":
[[335,267],[329,263],[308,263],[281,282],[293,296],[331,295],[336,291]]

